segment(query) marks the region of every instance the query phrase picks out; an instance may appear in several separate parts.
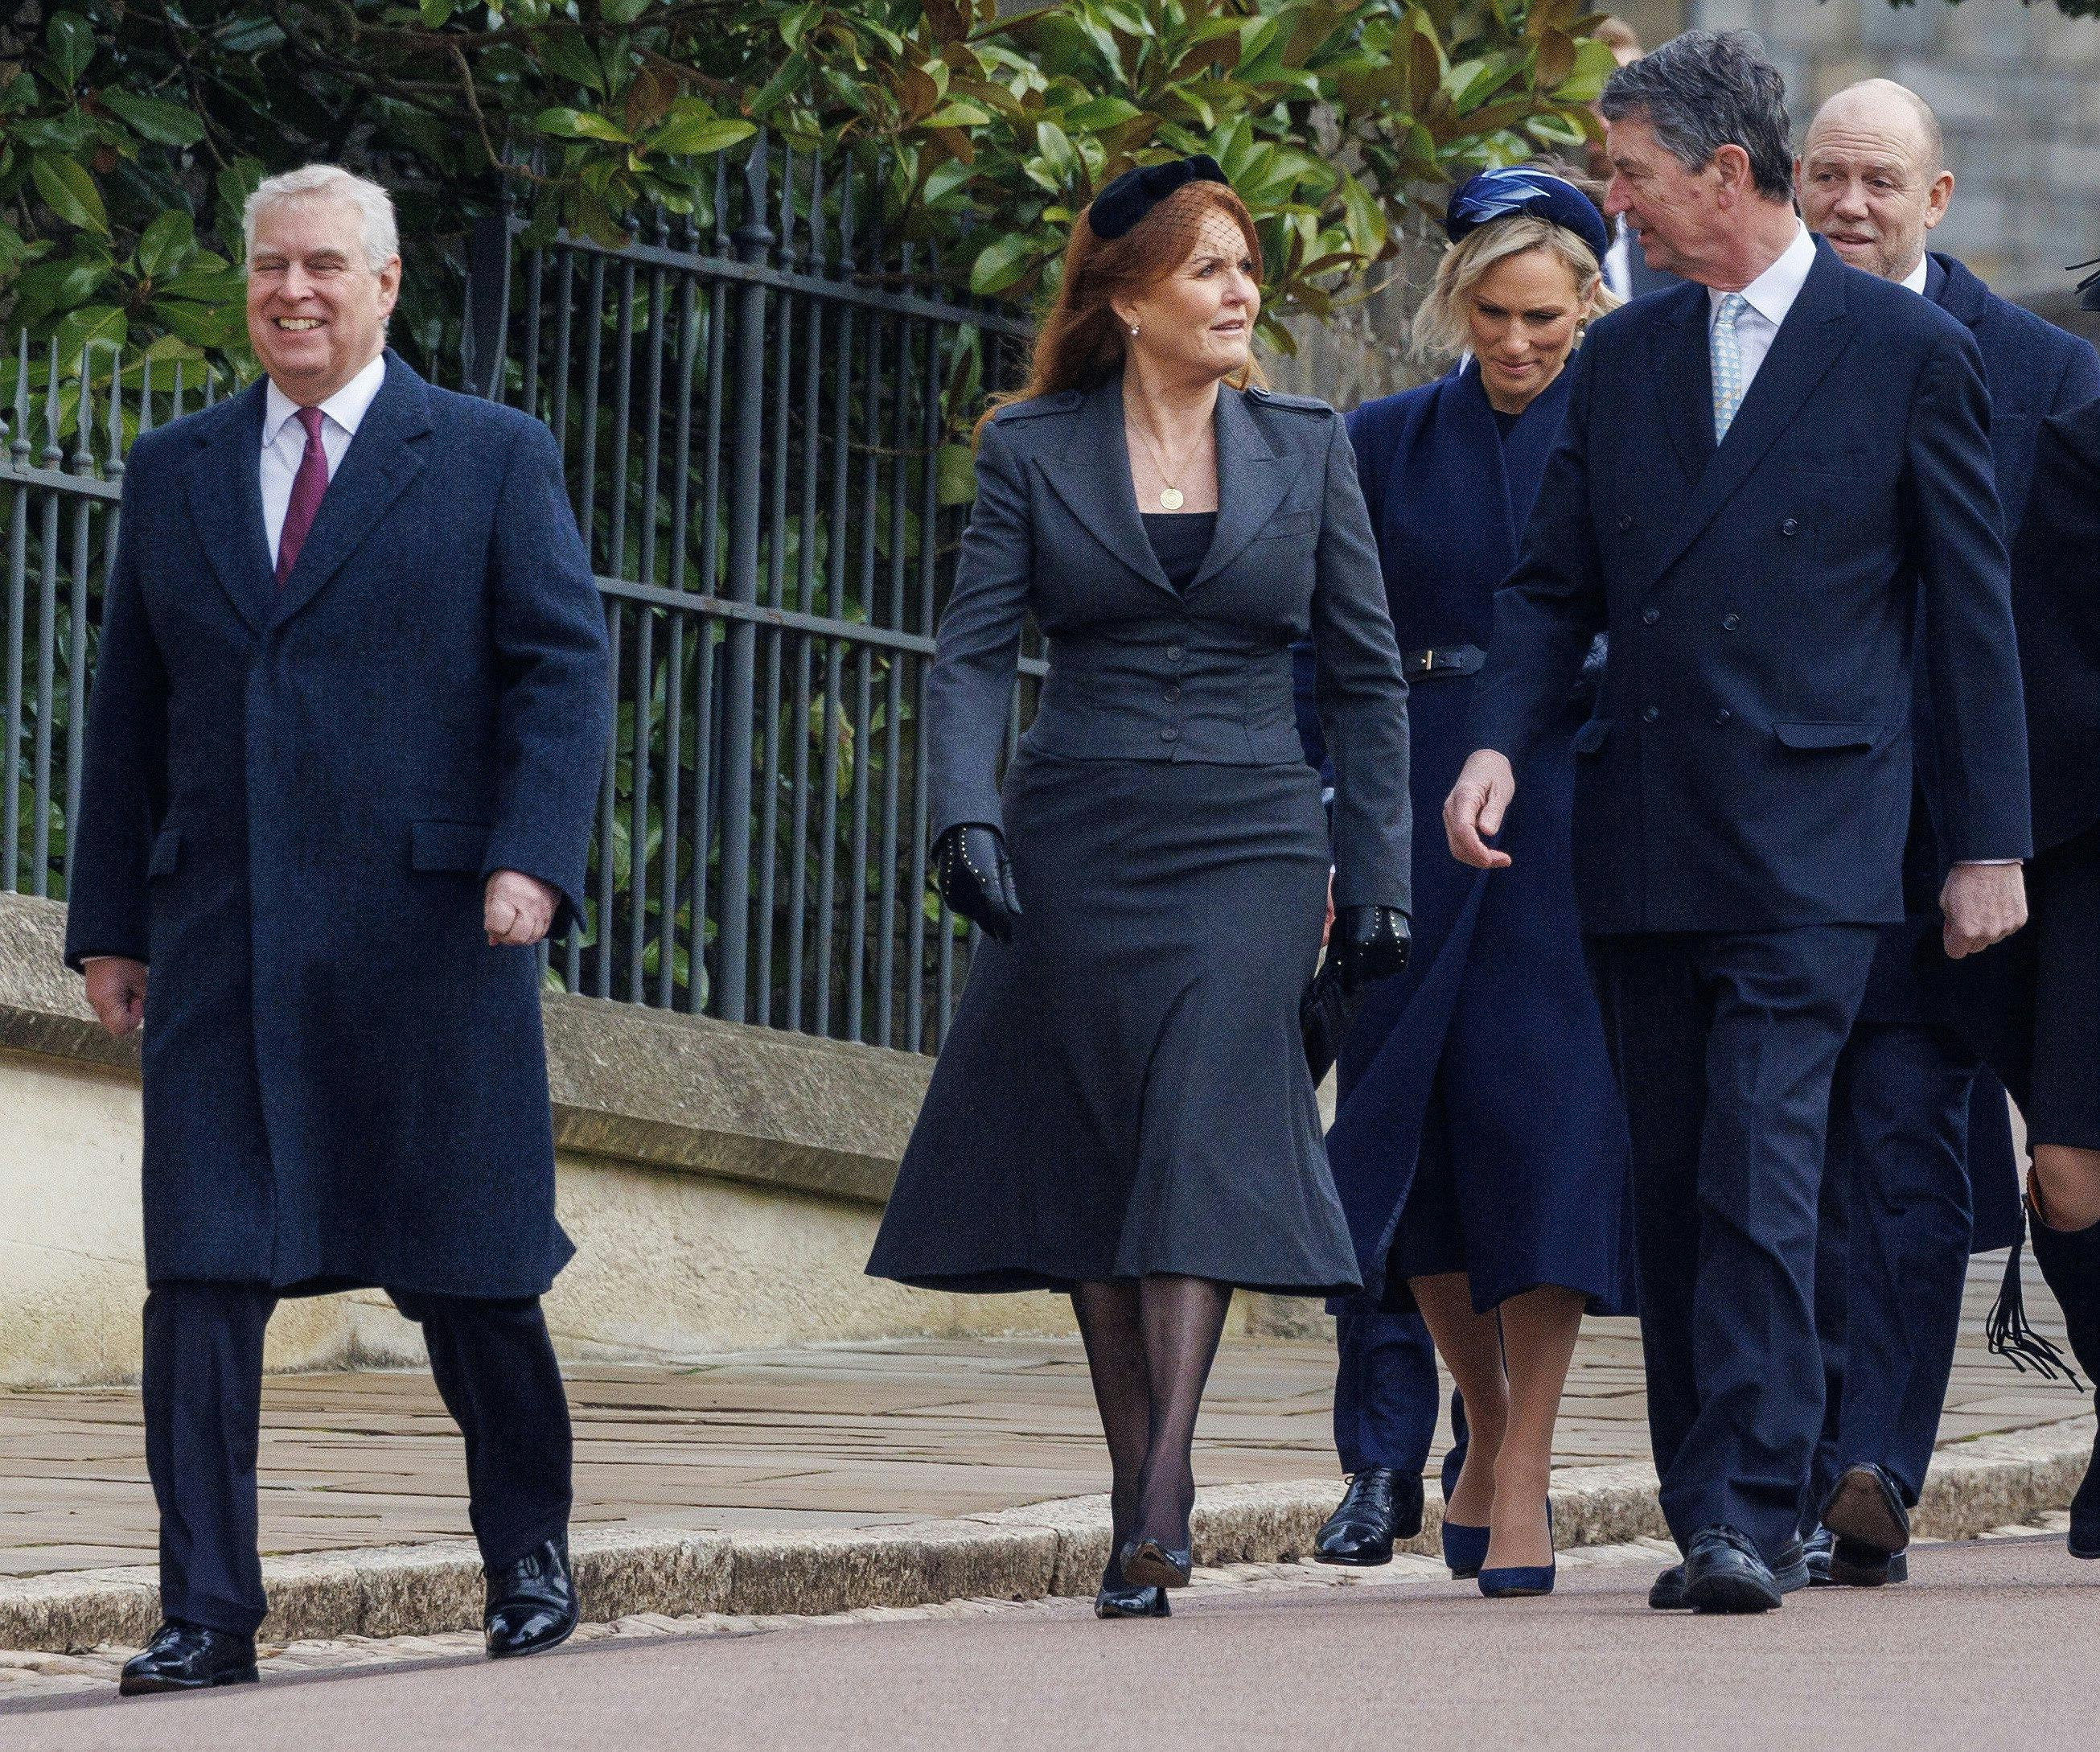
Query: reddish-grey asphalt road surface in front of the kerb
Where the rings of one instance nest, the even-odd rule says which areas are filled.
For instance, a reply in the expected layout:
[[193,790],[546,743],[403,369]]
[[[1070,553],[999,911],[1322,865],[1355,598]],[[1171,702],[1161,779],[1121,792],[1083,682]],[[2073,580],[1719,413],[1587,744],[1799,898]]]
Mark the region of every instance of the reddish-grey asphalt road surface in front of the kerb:
[[1060,1603],[200,1697],[101,1691],[0,1712],[0,1748],[2054,1752],[2100,1739],[2100,1563],[2068,1559],[2062,1536],[1922,1548],[1903,1588],[1814,1590],[1760,1620],[1653,1613],[1648,1576],[1564,1571],[1552,1599],[1504,1603],[1457,1584],[1216,1588],[1153,1622],[1100,1624]]

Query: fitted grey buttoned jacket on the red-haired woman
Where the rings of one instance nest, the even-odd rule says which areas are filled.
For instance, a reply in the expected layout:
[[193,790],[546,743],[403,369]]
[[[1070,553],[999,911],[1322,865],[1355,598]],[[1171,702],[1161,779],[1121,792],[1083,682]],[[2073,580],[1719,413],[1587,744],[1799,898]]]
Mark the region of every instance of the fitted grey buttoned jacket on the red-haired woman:
[[1071,760],[1292,765],[1292,645],[1319,660],[1336,905],[1407,910],[1407,681],[1342,418],[1218,391],[1218,527],[1186,590],[1130,489],[1124,384],[1002,408],[928,676],[932,832],[1000,821],[998,763],[1029,613],[1050,676],[1025,746]]

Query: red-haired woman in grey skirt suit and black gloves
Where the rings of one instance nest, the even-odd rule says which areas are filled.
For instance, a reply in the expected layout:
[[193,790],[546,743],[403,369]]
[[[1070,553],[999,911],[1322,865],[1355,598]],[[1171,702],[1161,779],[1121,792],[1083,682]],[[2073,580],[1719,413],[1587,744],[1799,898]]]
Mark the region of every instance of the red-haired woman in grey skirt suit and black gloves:
[[[1239,389],[1239,197],[1149,166],[1075,225],[1027,389],[979,433],[928,679],[934,876],[985,931],[869,1271],[1063,1290],[1109,1441],[1109,1615],[1189,1578],[1191,1439],[1235,1286],[1357,1284],[1298,1004],[1327,821],[1292,710],[1319,651],[1336,954],[1407,956],[1407,685],[1357,464],[1317,401]],[[1021,630],[1050,679],[998,784]]]

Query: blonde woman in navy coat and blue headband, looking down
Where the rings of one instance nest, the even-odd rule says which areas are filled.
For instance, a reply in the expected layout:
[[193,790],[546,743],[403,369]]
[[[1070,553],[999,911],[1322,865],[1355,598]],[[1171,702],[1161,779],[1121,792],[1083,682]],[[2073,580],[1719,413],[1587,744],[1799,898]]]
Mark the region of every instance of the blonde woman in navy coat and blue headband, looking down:
[[[1418,321],[1445,378],[1348,416],[1411,689],[1418,809],[1470,744],[1495,588],[1560,431],[1562,370],[1617,298],[1604,221],[1539,166],[1451,200],[1451,250]],[[1552,1588],[1546,1483],[1586,1307],[1630,1294],[1625,1120],[1581,958],[1569,819],[1588,697],[1522,775],[1531,815],[1495,876],[1418,842],[1415,960],[1365,1004],[1338,1063],[1327,1151],[1365,1281],[1422,1309],[1470,1441],[1445,1508],[1451,1573]]]

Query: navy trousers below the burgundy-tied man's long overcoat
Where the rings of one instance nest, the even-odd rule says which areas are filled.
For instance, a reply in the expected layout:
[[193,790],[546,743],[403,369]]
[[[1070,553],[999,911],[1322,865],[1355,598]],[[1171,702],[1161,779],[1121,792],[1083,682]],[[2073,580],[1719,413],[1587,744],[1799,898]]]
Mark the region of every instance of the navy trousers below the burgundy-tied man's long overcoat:
[[[569,1525],[569,1401],[540,1298],[388,1292],[422,1326],[439,1397],[466,1437],[468,1519],[491,1569]],[[155,1284],[145,1298],[145,1462],[160,1508],[166,1618],[254,1634],[265,1284]]]

